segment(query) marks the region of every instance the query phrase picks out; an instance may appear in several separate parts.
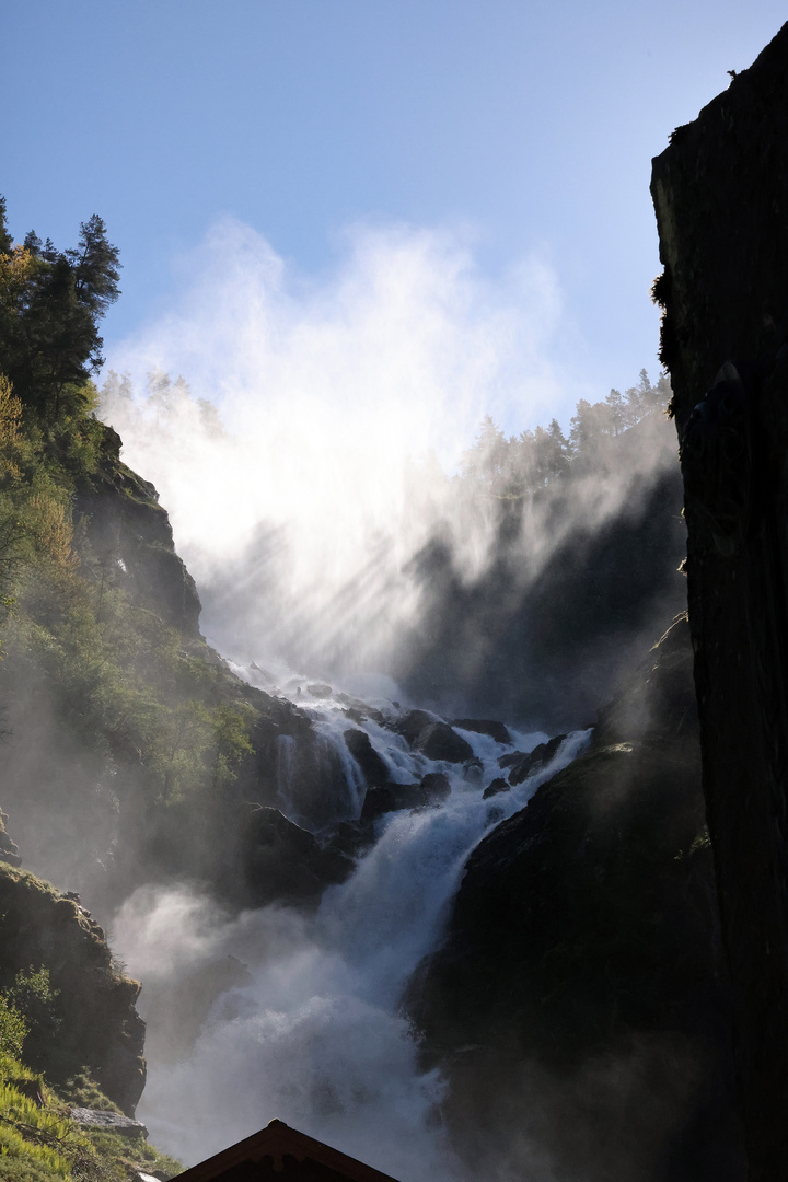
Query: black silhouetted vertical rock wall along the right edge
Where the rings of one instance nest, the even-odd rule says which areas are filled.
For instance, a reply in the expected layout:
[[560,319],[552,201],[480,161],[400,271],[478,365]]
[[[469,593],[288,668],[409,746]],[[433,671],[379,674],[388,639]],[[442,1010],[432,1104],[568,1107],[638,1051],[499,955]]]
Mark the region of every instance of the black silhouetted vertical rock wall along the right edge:
[[653,162],[750,1177],[788,1161],[788,26]]

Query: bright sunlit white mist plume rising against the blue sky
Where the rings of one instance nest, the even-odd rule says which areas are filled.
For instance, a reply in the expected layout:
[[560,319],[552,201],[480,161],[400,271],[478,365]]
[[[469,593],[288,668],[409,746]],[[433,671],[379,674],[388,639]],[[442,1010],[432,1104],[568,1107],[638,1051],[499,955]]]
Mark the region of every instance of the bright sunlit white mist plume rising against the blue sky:
[[[389,669],[408,648],[430,546],[464,583],[495,561],[501,502],[456,479],[482,416],[522,429],[567,401],[543,261],[494,285],[456,232],[366,227],[346,245],[306,280],[247,227],[216,227],[177,309],[111,351],[103,410],[162,495],[210,638],[326,676]],[[625,470],[573,481],[559,513],[523,501],[523,585],[672,462],[670,428],[655,440]]]

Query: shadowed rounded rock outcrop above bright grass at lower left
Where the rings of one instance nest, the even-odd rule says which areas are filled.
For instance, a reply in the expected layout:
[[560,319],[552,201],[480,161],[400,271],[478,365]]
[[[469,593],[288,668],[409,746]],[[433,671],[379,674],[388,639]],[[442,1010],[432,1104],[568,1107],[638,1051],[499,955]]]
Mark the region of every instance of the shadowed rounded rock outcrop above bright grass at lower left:
[[86,1066],[102,1090],[133,1116],[145,1084],[145,1024],[139,982],[112,966],[104,933],[72,900],[33,875],[0,864],[0,986],[46,968],[59,994],[57,1039],[35,1066],[53,1082]]

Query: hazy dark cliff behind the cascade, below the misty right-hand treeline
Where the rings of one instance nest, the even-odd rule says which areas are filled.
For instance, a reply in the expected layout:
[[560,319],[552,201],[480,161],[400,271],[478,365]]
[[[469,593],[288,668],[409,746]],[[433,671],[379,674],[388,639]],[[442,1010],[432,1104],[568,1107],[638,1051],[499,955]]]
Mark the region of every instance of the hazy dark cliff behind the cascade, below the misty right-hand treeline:
[[[659,416],[657,416],[659,417]],[[616,462],[653,446],[644,421],[621,437]],[[626,447],[624,447],[626,444]],[[404,649],[395,676],[410,696],[445,713],[508,719],[553,732],[582,726],[660,622],[686,606],[676,573],[686,552],[682,481],[672,461],[604,524],[566,532],[539,573],[519,548],[522,506],[508,504],[494,560],[475,583],[434,545],[416,560],[428,595],[421,648]],[[536,505],[535,512],[546,512]],[[514,539],[508,537],[514,533]]]

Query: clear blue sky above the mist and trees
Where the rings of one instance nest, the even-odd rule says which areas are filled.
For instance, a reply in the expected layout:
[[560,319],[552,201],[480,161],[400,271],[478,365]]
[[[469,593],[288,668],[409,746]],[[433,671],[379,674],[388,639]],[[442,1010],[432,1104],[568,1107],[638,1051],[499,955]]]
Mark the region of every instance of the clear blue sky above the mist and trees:
[[549,271],[545,348],[573,404],[656,376],[651,157],[784,17],[777,0],[25,0],[2,20],[0,191],[18,238],[65,247],[106,221],[124,265],[110,357],[170,309],[217,219],[311,282],[341,266],[349,226],[454,228],[491,288],[523,259]]

